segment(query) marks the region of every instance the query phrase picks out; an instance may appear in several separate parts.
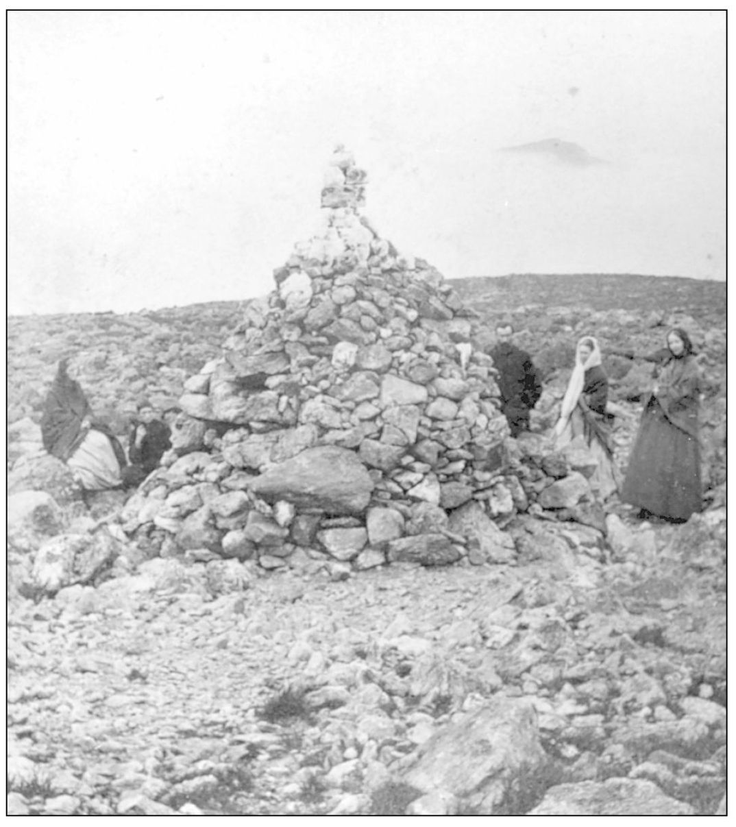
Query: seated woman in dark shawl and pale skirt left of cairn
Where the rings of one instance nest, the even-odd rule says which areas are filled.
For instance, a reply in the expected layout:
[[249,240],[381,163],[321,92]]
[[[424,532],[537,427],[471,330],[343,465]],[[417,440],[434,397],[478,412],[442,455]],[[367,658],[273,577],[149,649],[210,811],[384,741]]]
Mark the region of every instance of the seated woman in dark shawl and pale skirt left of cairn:
[[84,490],[119,488],[125,452],[110,429],[93,418],[79,382],[62,359],[46,395],[41,437],[46,451],[64,461]]

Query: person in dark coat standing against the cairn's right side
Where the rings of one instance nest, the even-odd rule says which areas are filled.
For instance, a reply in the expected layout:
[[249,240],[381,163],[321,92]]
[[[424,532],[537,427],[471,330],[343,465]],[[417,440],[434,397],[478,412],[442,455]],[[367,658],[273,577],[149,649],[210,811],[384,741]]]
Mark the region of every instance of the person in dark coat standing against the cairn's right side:
[[499,372],[501,413],[506,417],[511,436],[529,429],[529,411],[542,395],[542,383],[537,369],[526,351],[511,342],[514,327],[509,322],[496,325],[497,344],[490,350],[493,364]]

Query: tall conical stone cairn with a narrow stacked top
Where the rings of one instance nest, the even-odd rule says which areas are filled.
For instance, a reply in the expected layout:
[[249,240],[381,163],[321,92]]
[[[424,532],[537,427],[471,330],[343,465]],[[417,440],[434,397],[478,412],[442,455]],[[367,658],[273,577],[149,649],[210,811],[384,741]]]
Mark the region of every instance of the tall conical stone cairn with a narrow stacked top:
[[338,146],[320,231],[185,383],[168,465],[122,513],[148,556],[337,571],[513,556],[493,520],[526,495],[474,313],[375,232],[365,193]]

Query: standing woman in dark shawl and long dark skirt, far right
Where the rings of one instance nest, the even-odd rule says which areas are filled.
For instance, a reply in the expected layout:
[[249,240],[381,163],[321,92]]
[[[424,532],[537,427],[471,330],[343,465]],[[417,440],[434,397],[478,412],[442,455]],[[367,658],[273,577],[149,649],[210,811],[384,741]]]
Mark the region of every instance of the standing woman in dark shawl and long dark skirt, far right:
[[655,369],[631,449],[621,499],[640,515],[684,523],[702,508],[700,481],[700,370],[692,342],[681,327],[667,333],[668,355]]

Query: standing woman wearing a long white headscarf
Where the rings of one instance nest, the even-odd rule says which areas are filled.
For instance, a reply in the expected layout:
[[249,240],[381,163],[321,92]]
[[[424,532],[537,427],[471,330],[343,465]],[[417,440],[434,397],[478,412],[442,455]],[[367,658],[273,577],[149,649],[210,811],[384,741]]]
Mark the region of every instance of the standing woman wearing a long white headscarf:
[[600,347],[593,337],[583,337],[577,343],[575,367],[562,399],[554,437],[557,447],[565,447],[574,439],[585,442],[598,463],[590,487],[600,500],[608,499],[619,488],[619,471],[608,433],[607,402],[608,377],[601,366]]

